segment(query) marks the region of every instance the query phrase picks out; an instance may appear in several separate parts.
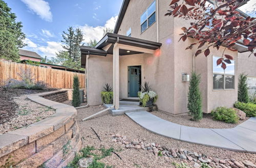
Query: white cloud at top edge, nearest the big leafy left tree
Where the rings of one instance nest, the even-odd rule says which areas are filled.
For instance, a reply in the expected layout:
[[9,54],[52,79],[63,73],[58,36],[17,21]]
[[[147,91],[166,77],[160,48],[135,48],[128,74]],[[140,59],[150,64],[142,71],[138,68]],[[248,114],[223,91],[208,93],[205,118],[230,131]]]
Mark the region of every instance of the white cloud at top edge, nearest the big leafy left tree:
[[52,13],[49,3],[44,0],[21,0],[26,6],[42,19],[52,21]]

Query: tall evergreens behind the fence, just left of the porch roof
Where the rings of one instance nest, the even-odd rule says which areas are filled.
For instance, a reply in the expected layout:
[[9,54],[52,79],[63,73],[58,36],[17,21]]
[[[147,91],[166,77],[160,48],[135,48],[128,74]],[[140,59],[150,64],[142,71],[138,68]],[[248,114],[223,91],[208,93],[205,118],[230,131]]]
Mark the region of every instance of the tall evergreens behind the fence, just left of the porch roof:
[[80,45],[83,41],[82,31],[77,28],[69,27],[67,32],[63,31],[63,40],[61,40],[64,45],[62,45],[62,51],[57,53],[57,59],[63,66],[68,66],[74,69],[81,69],[81,52]]

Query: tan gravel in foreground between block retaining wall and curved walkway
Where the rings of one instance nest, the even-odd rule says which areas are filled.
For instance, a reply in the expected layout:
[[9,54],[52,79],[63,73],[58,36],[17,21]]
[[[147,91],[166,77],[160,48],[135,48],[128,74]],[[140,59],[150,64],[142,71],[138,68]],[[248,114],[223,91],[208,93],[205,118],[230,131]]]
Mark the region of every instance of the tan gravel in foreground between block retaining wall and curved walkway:
[[[103,106],[90,106],[88,108],[78,109],[77,122],[83,139],[83,147],[93,146],[97,149],[113,147],[116,153],[122,158],[121,160],[115,154],[112,154],[101,159],[100,161],[106,165],[112,165],[113,167],[174,167],[172,162],[185,161],[180,158],[156,156],[152,150],[127,149],[122,143],[113,140],[113,134],[126,136],[127,141],[143,139],[145,144],[155,143],[166,146],[167,148],[182,148],[212,158],[235,159],[239,162],[249,160],[255,164],[256,154],[228,151],[167,138],[145,130],[125,115],[113,117],[110,113],[105,112],[87,121],[81,121],[83,118],[93,115],[102,109],[104,109]],[[91,127],[97,132],[101,141],[99,141]],[[194,165],[194,162],[187,161],[187,163],[190,166]]]

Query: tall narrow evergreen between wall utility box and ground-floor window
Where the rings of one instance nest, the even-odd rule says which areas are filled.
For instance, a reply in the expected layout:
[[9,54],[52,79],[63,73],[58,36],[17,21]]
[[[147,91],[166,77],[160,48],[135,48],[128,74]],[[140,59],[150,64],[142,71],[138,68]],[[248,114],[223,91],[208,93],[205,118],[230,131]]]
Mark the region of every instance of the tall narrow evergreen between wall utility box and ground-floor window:
[[198,121],[203,118],[202,97],[199,89],[200,80],[200,74],[192,72],[188,89],[187,108],[194,121]]

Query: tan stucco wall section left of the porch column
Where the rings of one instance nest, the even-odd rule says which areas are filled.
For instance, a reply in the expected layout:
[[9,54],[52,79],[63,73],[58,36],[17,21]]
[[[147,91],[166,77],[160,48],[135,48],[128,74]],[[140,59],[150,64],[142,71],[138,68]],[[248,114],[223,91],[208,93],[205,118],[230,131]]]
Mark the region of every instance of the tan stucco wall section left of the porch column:
[[100,92],[105,83],[113,88],[113,57],[90,55],[89,58],[89,105],[102,104]]

